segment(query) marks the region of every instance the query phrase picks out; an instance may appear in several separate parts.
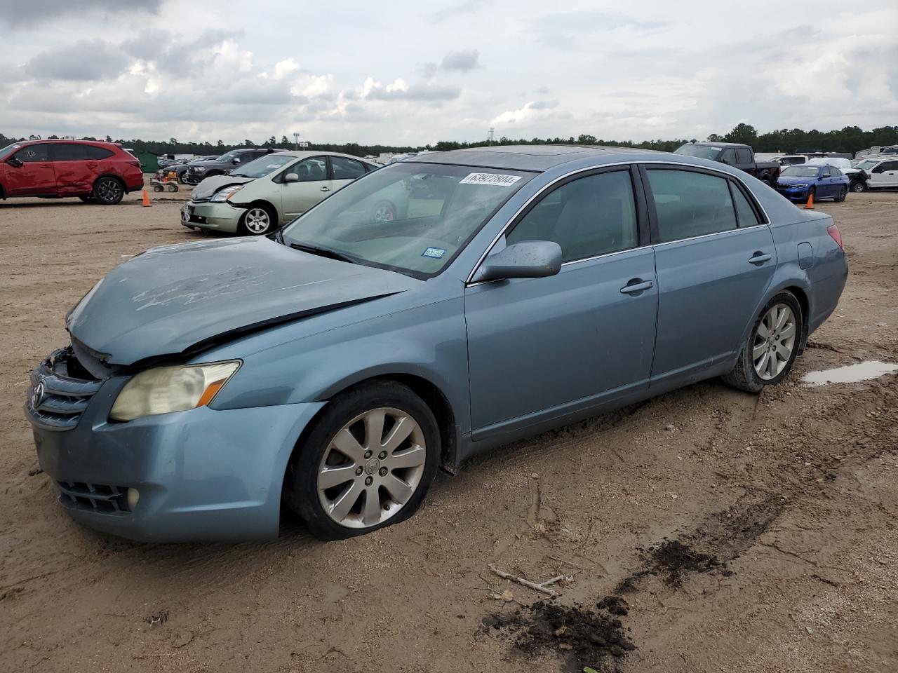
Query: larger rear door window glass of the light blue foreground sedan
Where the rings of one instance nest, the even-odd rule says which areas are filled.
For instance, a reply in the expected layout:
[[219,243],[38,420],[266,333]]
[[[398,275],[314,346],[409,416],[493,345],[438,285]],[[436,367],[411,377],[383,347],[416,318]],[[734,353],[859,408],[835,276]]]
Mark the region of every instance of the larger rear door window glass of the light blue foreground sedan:
[[649,169],[659,241],[691,239],[736,228],[726,179],[691,170]]

